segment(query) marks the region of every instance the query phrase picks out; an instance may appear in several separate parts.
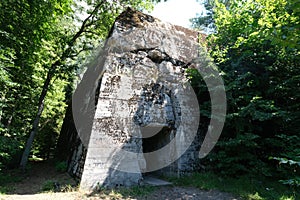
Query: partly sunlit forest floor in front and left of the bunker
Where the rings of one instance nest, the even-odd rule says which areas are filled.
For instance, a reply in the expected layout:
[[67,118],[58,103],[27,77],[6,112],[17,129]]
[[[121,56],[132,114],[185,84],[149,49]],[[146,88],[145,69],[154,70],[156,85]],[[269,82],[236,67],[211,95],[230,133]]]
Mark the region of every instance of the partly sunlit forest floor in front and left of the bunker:
[[[133,188],[121,188],[115,190],[103,190],[93,194],[78,191],[76,182],[67,174],[58,172],[53,163],[38,162],[31,164],[28,172],[16,171],[7,174],[7,181],[11,182],[0,186],[0,200],[4,199],[203,199],[203,200],[234,200],[236,198],[229,193],[216,190],[199,190],[193,187],[182,186],[143,186]],[[11,181],[13,177],[21,177]],[[3,182],[3,180],[2,180]],[[4,191],[4,192],[3,192]]]

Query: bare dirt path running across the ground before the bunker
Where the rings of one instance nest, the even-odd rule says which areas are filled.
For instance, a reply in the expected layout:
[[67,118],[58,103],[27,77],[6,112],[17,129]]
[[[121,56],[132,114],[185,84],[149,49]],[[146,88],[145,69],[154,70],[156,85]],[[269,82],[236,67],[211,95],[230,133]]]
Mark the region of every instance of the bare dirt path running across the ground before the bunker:
[[[42,193],[46,184],[58,183],[60,189],[66,185],[76,185],[67,173],[55,171],[53,163],[35,163],[25,178],[18,183],[9,185],[10,192],[0,195],[0,200],[100,200],[100,199],[128,199],[128,200],[235,200],[233,195],[218,191],[203,191],[192,187],[164,186],[157,187],[146,196],[122,194],[122,192],[105,191],[97,194],[84,194],[76,188],[69,188],[69,192]],[[71,191],[70,191],[71,190]],[[73,191],[72,191],[73,190]]]

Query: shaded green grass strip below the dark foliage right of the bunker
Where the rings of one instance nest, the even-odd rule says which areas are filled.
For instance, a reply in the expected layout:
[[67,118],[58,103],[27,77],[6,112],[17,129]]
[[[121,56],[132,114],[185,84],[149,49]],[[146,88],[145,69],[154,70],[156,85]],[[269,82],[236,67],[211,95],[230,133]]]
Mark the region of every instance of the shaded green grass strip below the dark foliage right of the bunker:
[[261,177],[224,178],[212,173],[195,173],[191,176],[168,179],[178,186],[193,186],[203,190],[216,189],[247,200],[296,200],[300,197],[299,188],[291,188],[276,180]]

